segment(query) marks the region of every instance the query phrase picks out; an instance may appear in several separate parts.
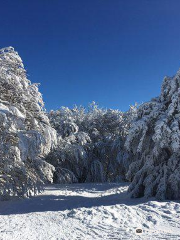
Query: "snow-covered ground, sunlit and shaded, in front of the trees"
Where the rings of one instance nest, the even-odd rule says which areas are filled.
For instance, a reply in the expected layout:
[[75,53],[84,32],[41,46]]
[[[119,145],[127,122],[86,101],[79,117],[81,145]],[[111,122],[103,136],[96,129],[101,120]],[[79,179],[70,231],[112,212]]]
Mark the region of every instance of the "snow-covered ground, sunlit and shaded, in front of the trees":
[[130,199],[127,187],[49,185],[31,199],[1,202],[0,239],[180,239],[179,201]]

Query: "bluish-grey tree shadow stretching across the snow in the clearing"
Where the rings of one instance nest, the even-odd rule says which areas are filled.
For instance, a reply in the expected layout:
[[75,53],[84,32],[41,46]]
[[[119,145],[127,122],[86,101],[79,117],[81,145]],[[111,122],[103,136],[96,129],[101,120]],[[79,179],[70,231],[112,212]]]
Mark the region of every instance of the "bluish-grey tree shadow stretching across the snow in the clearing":
[[[117,189],[118,187],[126,187],[127,183],[114,184],[69,184],[69,185],[51,185],[46,187],[49,195],[38,195],[29,199],[21,199],[18,201],[8,201],[0,203],[0,215],[10,214],[26,214],[33,212],[47,211],[64,211],[77,208],[91,208],[100,206],[112,206],[116,204],[125,204],[127,206],[137,205],[147,202],[147,199],[131,199],[127,192],[110,193],[107,196],[89,197],[81,196],[81,193],[101,194],[104,191]],[[65,191],[71,191],[72,195],[66,195]],[[51,194],[51,191],[64,191],[63,195]],[[78,195],[73,195],[76,193]],[[93,196],[93,195],[92,195]],[[149,199],[150,200],[150,199]]]

